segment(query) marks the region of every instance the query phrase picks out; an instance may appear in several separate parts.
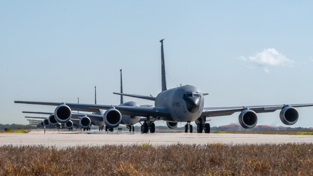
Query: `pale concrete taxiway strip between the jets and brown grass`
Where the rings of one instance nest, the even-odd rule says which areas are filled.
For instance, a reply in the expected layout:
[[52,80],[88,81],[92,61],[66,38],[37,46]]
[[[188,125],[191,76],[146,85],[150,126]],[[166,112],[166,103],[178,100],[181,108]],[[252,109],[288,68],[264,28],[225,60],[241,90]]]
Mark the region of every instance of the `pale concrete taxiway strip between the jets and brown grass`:
[[311,135],[267,135],[267,134],[205,134],[205,133],[148,133],[140,132],[99,132],[90,131],[49,131],[34,130],[30,133],[0,133],[0,145],[44,145],[70,147],[77,145],[106,145],[106,144],[141,144],[170,145],[170,144],[264,144],[264,143],[313,143]]

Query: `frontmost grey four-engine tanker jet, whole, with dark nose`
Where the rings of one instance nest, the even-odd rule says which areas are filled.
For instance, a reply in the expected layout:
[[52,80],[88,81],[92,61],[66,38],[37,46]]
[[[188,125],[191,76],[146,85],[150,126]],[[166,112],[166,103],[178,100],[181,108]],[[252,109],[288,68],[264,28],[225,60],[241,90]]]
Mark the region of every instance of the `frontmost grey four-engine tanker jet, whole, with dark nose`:
[[216,116],[227,116],[235,112],[239,114],[239,123],[243,128],[253,128],[257,121],[257,113],[274,112],[280,109],[280,120],[286,125],[293,125],[299,118],[296,107],[313,106],[313,104],[283,104],[283,105],[263,105],[263,106],[238,106],[205,108],[204,95],[201,90],[192,85],[184,85],[167,90],[164,66],[163,40],[161,42],[161,74],[162,92],[156,97],[142,96],[126,93],[115,93],[119,95],[147,99],[155,101],[155,107],[140,106],[115,106],[100,104],[78,104],[78,103],[54,103],[54,102],[34,102],[34,101],[14,101],[15,103],[41,104],[57,106],[54,116],[57,122],[67,123],[71,118],[72,110],[100,113],[101,109],[106,110],[103,114],[103,121],[108,128],[119,126],[123,115],[142,116],[145,122],[142,124],[142,132],[155,132],[155,120],[164,120],[169,128],[176,128],[178,122],[187,122],[185,132],[192,132],[190,123],[195,121],[197,132],[210,133],[210,124],[206,123],[207,118]]

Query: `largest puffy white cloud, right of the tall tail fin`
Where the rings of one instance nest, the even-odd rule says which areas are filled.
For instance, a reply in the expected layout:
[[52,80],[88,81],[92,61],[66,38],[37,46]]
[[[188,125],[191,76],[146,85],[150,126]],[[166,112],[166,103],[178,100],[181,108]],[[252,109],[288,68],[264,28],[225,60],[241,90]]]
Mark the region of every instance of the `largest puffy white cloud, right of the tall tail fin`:
[[278,53],[275,48],[264,49],[262,52],[256,53],[255,56],[249,56],[249,60],[263,66],[292,66],[294,63],[282,53]]

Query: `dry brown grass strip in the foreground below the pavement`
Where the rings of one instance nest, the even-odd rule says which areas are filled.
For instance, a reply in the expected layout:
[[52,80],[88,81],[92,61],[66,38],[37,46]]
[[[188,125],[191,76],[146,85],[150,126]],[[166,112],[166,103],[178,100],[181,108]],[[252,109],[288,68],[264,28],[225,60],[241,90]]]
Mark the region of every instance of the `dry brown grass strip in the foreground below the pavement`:
[[312,175],[313,144],[0,147],[0,175]]

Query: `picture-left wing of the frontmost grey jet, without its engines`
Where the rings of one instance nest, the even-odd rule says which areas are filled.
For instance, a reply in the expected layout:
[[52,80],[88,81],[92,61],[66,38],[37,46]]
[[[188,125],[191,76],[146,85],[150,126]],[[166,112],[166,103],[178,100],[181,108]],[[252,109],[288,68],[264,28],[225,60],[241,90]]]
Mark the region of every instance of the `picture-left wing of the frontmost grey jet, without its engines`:
[[[115,105],[100,105],[100,104],[81,104],[81,103],[54,103],[54,102],[32,102],[32,101],[14,101],[14,103],[23,104],[40,104],[40,105],[50,105],[59,106],[60,104],[66,104],[75,111],[87,111],[87,112],[99,112],[99,109],[108,110],[112,106],[119,110],[121,114],[124,115],[134,115],[134,116],[151,116],[151,117],[170,117],[170,113],[165,107],[137,107],[137,106],[115,106]],[[90,114],[86,114],[87,116]],[[89,117],[89,116],[88,116]]]

